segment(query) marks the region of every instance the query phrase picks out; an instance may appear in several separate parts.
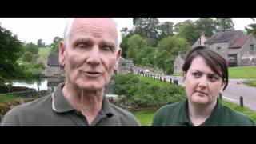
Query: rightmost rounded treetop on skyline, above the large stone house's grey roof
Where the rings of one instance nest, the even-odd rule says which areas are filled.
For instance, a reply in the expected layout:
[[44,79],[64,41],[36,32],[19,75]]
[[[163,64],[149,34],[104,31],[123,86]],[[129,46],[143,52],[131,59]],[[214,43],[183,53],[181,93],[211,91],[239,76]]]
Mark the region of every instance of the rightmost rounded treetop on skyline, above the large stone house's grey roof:
[[216,32],[225,32],[234,30],[234,22],[232,18],[216,18]]

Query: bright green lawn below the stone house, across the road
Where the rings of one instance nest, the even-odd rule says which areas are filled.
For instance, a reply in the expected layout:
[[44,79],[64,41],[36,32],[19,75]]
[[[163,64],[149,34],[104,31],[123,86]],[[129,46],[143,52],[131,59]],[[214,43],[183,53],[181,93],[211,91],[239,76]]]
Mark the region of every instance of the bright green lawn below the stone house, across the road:
[[229,78],[256,78],[256,66],[229,67]]

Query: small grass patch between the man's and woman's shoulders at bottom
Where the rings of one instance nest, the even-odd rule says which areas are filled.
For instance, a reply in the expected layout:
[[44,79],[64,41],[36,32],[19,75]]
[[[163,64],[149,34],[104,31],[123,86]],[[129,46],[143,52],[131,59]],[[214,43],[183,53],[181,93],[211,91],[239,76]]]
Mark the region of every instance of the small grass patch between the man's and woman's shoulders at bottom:
[[142,126],[151,126],[156,110],[132,111],[131,113],[138,119]]

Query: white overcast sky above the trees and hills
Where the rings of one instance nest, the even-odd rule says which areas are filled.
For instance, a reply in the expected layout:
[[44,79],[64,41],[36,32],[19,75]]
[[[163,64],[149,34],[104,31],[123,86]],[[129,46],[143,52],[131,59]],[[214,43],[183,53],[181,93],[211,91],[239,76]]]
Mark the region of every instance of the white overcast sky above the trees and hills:
[[[122,27],[132,28],[132,18],[114,18],[118,22],[118,29]],[[192,21],[198,18],[158,18],[160,22],[183,22],[187,19]],[[245,26],[248,26],[254,21],[251,18],[232,18],[234,22],[235,30],[244,30]],[[254,18],[256,20],[256,18]],[[0,18],[2,27],[7,30],[11,30],[14,34],[17,34],[18,39],[22,42],[37,43],[38,39],[42,39],[42,42],[50,44],[53,42],[55,36],[63,37],[63,30],[65,26],[66,18]]]

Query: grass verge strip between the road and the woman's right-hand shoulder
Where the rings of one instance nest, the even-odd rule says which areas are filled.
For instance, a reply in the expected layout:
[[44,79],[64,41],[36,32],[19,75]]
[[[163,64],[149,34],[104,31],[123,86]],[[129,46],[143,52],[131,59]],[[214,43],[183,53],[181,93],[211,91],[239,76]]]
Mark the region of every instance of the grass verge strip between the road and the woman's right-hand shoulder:
[[222,103],[226,106],[229,106],[230,108],[232,108],[233,110],[237,110],[239,111],[240,113],[242,114],[245,114],[247,115],[249,118],[251,118],[254,122],[256,122],[256,111],[254,110],[250,110],[246,107],[241,107],[241,106],[238,106],[234,103],[231,103],[231,102],[226,102],[226,101],[222,101]]

